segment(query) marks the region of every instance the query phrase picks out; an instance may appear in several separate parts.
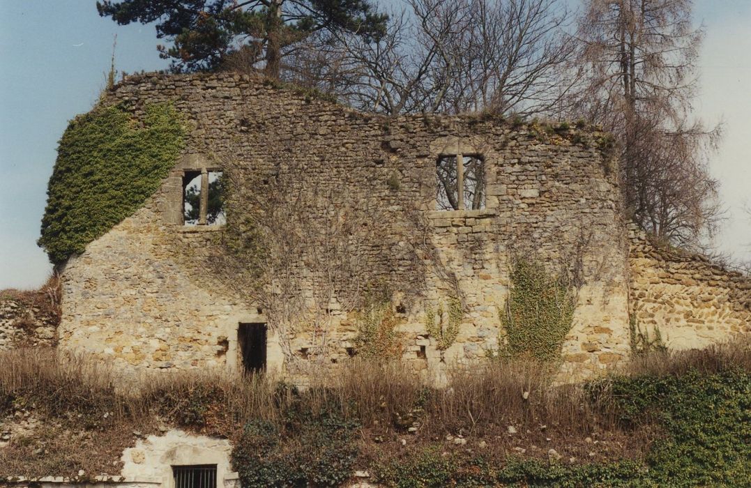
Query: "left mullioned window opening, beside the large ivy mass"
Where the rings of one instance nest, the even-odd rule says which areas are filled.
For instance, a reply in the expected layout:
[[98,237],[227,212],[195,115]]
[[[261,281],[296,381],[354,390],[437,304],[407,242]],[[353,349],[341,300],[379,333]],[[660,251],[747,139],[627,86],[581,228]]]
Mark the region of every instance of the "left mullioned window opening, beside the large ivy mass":
[[[208,191],[204,191],[207,188]],[[185,225],[225,224],[225,179],[222,171],[185,171],[182,176],[182,221]]]

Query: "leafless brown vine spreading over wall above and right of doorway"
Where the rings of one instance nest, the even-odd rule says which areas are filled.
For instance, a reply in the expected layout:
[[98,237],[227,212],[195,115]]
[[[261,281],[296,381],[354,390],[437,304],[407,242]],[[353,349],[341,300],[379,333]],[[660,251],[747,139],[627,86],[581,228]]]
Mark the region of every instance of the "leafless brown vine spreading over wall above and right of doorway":
[[[334,315],[357,309],[373,281],[364,242],[375,209],[332,179],[303,185],[304,164],[250,171],[225,161],[228,224],[212,257],[219,279],[264,312],[288,360],[289,338],[309,337],[309,359],[327,357]],[[357,203],[357,207],[353,205]]]

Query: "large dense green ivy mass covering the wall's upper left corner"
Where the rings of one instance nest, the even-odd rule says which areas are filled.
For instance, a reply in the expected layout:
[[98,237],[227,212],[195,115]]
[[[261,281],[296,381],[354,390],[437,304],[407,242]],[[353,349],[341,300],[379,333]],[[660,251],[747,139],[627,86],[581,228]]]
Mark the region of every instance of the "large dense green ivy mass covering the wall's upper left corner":
[[174,107],[146,107],[143,119],[118,106],[95,107],[70,122],[47,185],[41,246],[53,264],[132,215],[158,189],[182,149]]

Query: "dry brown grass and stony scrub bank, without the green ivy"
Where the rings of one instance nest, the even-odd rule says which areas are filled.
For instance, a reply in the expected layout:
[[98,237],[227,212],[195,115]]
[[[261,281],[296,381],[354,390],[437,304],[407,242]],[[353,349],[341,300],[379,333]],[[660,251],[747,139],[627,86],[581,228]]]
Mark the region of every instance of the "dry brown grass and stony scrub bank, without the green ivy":
[[[747,340],[638,357],[625,373],[683,375],[737,367],[751,370]],[[38,423],[29,432],[14,432],[11,444],[0,448],[0,476],[79,469],[116,474],[119,454],[134,444],[134,430],[148,434],[158,425],[180,426],[234,438],[248,420],[263,418],[284,432],[293,410],[304,412],[303,419],[325,412],[358,420],[363,459],[436,443],[445,450],[477,449],[481,441],[487,454],[501,458],[522,450],[544,457],[550,447],[591,460],[644,453],[655,435],[650,426],[624,426],[611,410],[613,402],[593,402],[583,387],[556,386],[552,378],[538,363],[488,362],[457,369],[447,387],[435,389],[398,363],[351,360],[303,391],[263,375],[195,371],[149,375],[126,388],[101,362],[53,349],[4,351],[0,414],[6,425]],[[468,443],[454,444],[447,435]]]

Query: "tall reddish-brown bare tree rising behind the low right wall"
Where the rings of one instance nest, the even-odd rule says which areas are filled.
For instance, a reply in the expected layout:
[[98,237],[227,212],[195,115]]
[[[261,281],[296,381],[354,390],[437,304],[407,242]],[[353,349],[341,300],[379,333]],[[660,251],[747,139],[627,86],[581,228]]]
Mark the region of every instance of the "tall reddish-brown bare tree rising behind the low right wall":
[[705,128],[691,113],[703,37],[691,13],[691,0],[587,0],[576,60],[586,83],[571,112],[620,140],[629,215],[689,247],[716,229],[722,213],[707,171],[720,128]]

